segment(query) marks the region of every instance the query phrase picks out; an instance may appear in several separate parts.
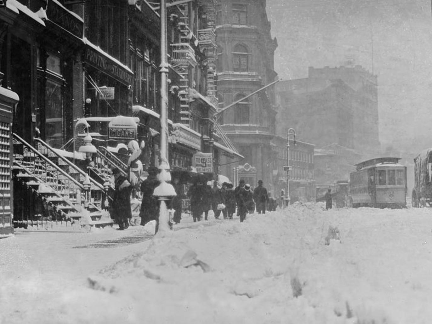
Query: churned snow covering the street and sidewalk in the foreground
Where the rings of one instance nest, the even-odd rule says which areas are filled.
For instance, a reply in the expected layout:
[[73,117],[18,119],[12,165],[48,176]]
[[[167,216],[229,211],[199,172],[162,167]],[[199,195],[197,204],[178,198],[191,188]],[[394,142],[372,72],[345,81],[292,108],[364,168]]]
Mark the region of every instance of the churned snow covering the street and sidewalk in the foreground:
[[165,237],[19,230],[0,239],[0,323],[430,323],[431,220],[295,203]]

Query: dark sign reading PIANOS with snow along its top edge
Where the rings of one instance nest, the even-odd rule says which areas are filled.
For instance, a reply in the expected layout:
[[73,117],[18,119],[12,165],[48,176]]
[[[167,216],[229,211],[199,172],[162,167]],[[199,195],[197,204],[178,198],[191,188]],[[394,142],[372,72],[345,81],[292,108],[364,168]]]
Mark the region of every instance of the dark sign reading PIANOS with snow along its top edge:
[[50,0],[47,5],[47,16],[51,22],[67,30],[72,35],[78,38],[83,37],[83,20],[64,8],[59,2]]

